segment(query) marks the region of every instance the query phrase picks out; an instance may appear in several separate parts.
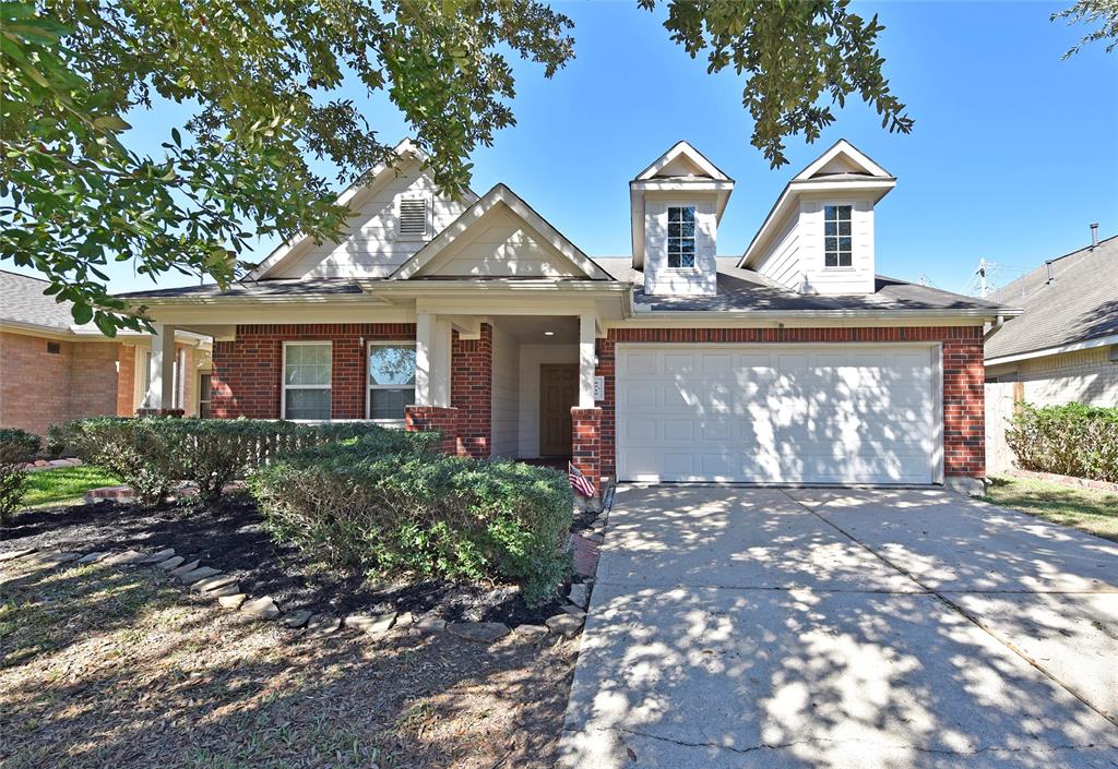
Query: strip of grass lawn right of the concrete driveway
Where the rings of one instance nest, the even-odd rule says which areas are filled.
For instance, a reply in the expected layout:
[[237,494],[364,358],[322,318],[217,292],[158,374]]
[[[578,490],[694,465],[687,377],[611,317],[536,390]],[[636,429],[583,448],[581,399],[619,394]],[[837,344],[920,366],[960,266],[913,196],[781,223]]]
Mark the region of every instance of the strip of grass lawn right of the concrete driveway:
[[986,502],[1118,542],[1118,494],[1033,478],[1001,476],[993,482]]

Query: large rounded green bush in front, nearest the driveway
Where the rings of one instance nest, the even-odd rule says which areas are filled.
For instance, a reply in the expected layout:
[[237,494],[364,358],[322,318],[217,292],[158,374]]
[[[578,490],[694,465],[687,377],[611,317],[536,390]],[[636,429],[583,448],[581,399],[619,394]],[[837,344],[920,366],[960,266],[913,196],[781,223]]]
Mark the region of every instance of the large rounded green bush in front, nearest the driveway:
[[555,592],[570,559],[574,499],[546,467],[420,450],[369,437],[301,452],[249,478],[269,531],[332,566]]

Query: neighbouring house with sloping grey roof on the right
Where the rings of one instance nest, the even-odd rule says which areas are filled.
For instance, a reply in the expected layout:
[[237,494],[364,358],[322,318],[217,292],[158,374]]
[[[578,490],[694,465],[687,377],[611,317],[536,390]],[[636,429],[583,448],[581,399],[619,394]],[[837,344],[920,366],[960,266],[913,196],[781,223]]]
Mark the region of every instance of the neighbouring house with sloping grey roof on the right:
[[1016,404],[1118,406],[1118,236],[1045,262],[991,298],[1022,308],[986,343],[986,452],[991,469],[1004,471]]

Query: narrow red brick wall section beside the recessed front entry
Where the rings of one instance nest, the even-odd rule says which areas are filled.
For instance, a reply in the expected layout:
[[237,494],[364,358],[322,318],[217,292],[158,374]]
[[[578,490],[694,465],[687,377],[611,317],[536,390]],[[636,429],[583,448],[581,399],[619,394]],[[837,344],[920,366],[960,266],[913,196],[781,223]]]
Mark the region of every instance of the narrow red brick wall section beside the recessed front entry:
[[475,458],[492,452],[493,327],[482,323],[481,339],[451,344],[451,406],[458,409],[458,454]]

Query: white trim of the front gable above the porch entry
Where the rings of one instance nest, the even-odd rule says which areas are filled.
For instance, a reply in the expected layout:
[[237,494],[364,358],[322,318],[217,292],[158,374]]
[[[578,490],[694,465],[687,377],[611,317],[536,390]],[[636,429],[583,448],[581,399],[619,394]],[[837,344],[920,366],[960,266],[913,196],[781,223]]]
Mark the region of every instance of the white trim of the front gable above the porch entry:
[[473,206],[467,208],[462,216],[454,220],[442,232],[435,236],[426,246],[416,251],[410,259],[400,265],[391,274],[391,281],[407,281],[415,277],[435,257],[451,246],[459,236],[476,224],[498,203],[503,203],[513,213],[520,217],[524,224],[536,230],[548,244],[558,250],[570,264],[588,278],[598,281],[613,281],[613,276],[584,254],[575,244],[565,238],[562,234],[552,227],[548,221],[532,210],[515,192],[504,184],[496,184],[486,192]]

